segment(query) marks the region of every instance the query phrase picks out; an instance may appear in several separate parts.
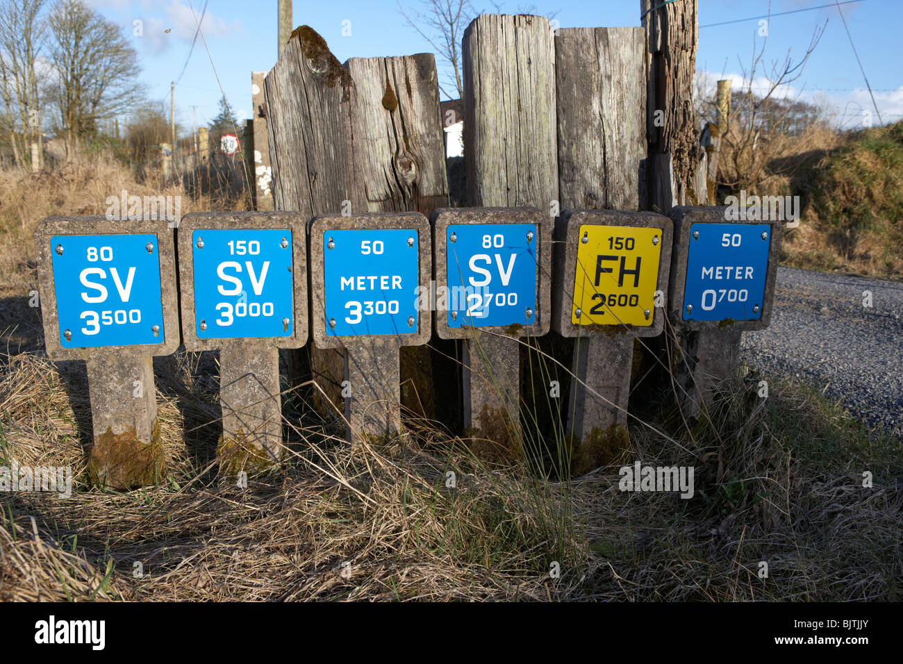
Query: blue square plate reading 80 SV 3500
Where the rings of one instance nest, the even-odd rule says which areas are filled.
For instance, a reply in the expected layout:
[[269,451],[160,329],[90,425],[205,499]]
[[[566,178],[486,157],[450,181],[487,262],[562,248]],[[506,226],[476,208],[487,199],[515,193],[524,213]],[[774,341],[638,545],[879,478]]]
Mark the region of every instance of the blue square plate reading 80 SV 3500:
[[63,348],[163,344],[156,235],[58,235],[51,257]]

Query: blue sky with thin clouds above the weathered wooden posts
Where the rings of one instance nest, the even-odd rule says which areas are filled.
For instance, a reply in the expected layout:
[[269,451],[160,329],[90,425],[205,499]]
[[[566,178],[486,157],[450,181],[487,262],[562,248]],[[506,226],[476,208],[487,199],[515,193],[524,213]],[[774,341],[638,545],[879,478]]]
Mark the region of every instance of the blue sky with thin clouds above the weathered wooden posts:
[[[420,0],[399,0],[417,7]],[[680,2],[681,0],[678,0]],[[832,0],[772,0],[771,12],[787,12],[826,5]],[[194,36],[195,19],[189,0],[88,0],[107,18],[123,26],[135,42],[142,65],[142,79],[150,96],[169,103],[170,81],[178,79],[188,58]],[[191,0],[200,18],[204,0]],[[478,9],[495,12],[491,3],[474,0]],[[596,27],[639,25],[638,0],[526,0],[501,3],[502,11],[517,13],[535,6],[537,14],[554,16],[559,27]],[[768,0],[700,0],[700,40],[696,57],[698,70],[705,70],[712,81],[733,78],[739,84],[744,68],[749,68],[754,40],[761,45],[759,22],[745,21],[717,27],[709,23],[735,21],[768,14]],[[903,27],[903,1],[861,0],[842,5],[852,40],[885,122],[903,117],[903,45],[899,31]],[[801,94],[806,100],[818,100],[833,108],[838,124],[852,126],[860,122],[861,109],[871,109],[871,101],[859,65],[836,7],[815,9],[784,16],[773,16],[768,23],[768,41],[763,57],[767,77],[773,61],[783,62],[790,51],[799,59],[805,53],[815,26],[827,19],[822,41],[807,63],[803,76],[780,94]],[[135,21],[141,21],[142,36],[134,36]],[[343,23],[343,22],[350,22]],[[409,55],[433,51],[398,11],[396,0],[295,0],[293,23],[307,23],[329,42],[340,61],[352,57]],[[350,35],[342,35],[343,24]],[[209,55],[200,38],[194,46],[182,79],[176,86],[176,121],[187,135],[191,131],[191,106],[197,107],[202,126],[216,115],[220,96],[217,76],[237,115],[250,117],[251,71],[269,70],[276,59],[276,0],[209,0],[201,23]],[[170,29],[170,33],[165,33]],[[347,31],[346,31],[347,32]],[[437,59],[438,63],[438,59]],[[449,72],[440,64],[440,79]],[[767,78],[755,84],[766,85]],[[877,120],[876,120],[877,122]]]

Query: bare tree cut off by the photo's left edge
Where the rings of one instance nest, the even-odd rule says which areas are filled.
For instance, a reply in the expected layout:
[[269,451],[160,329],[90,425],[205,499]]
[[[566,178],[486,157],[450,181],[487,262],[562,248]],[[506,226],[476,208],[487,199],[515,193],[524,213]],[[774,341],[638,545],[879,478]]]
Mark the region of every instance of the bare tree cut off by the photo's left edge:
[[[37,69],[46,44],[43,5],[44,0],[0,2],[0,95],[4,102],[4,128],[16,164],[26,161],[32,144],[37,144],[40,160],[43,90]],[[40,161],[35,165],[40,165]]]

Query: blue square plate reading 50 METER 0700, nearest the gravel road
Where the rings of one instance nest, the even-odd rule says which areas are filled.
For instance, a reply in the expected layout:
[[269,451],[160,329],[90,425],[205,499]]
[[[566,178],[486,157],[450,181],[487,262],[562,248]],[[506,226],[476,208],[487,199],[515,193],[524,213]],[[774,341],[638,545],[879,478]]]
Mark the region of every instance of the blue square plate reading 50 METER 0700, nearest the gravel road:
[[758,321],[770,244],[768,224],[693,224],[684,321]]

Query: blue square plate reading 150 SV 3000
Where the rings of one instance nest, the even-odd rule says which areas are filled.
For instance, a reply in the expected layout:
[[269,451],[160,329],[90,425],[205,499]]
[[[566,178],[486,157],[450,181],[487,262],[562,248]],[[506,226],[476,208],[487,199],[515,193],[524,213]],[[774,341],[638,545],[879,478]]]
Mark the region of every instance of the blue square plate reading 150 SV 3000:
[[292,336],[292,231],[197,229],[191,233],[198,339]]

